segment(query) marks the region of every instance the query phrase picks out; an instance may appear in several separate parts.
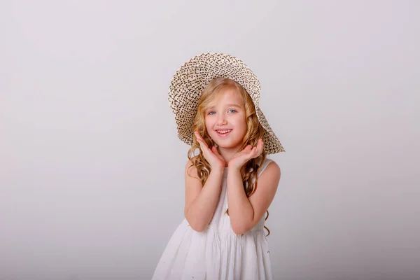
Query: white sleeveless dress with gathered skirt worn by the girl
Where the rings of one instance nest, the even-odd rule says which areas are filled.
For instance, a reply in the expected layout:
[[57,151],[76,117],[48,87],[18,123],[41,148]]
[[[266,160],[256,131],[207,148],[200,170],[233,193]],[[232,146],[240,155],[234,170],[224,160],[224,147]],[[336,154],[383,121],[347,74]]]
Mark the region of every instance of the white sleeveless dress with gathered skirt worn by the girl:
[[[262,163],[258,176],[272,160]],[[186,219],[176,228],[160,258],[153,280],[267,280],[272,278],[265,215],[244,235],[232,230],[226,193],[225,168],[221,197],[214,216],[203,232],[196,232]]]

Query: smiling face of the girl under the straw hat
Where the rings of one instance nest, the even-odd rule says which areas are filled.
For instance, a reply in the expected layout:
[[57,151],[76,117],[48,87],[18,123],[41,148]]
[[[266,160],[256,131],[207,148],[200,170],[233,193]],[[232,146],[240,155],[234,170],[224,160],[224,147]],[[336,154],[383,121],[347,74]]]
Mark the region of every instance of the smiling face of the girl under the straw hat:
[[245,104],[233,88],[223,89],[205,111],[207,133],[220,148],[238,149],[246,134]]

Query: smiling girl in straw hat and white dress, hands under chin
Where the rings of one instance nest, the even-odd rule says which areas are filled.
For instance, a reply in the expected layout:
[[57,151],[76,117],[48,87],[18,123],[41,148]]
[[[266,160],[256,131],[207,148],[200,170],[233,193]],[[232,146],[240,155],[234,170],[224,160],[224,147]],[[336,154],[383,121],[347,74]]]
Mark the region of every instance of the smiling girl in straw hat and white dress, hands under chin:
[[264,222],[280,169],[266,155],[284,150],[259,97],[256,76],[230,55],[199,55],[175,73],[169,102],[191,146],[186,219],[153,279],[272,279]]

